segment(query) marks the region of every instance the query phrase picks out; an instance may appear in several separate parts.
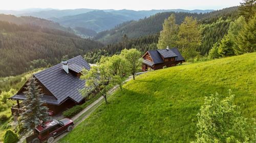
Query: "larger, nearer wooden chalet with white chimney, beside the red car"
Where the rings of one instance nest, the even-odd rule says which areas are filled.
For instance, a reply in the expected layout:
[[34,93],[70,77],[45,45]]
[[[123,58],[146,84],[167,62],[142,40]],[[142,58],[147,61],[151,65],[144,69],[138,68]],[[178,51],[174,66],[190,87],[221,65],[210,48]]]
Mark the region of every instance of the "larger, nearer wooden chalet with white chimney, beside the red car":
[[[51,114],[54,115],[84,102],[84,97],[79,92],[84,87],[85,82],[79,79],[83,68],[90,70],[90,65],[79,55],[33,74],[37,84],[42,89],[41,99],[45,101],[45,105],[49,108]],[[10,98],[17,101],[17,104],[11,107],[12,115],[18,115],[26,110],[26,105],[20,102],[20,100],[26,100],[25,87],[26,83],[17,94]]]

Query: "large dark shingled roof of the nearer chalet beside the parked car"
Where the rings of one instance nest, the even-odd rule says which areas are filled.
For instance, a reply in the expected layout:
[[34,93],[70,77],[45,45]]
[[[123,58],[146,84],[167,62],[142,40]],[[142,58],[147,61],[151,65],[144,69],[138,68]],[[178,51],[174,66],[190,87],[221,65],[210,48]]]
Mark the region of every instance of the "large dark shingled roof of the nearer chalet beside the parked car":
[[[81,55],[67,61],[69,69],[80,72],[82,68],[90,70],[90,65],[82,58]],[[67,98],[71,98],[79,103],[83,97],[79,90],[84,87],[84,80],[80,80],[72,73],[67,74],[62,69],[62,64],[55,65],[49,69],[42,70],[33,74],[53,95],[54,99],[45,98],[46,103],[61,104]],[[20,95],[14,95],[12,99],[19,98]]]

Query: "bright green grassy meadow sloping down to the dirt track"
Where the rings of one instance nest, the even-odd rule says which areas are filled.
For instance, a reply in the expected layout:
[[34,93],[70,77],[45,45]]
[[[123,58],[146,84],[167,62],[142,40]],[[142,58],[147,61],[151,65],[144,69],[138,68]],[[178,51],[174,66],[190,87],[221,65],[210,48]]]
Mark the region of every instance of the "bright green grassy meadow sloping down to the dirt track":
[[189,142],[204,97],[228,89],[242,115],[255,119],[255,69],[256,53],[249,53],[142,74],[60,142]]

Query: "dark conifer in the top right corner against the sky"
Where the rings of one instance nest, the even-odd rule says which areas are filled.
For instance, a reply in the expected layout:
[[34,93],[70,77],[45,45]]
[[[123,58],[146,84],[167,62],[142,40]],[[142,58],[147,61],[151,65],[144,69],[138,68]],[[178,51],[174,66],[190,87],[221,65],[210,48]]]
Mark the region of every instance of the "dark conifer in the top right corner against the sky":
[[255,0],[243,0],[244,3],[240,3],[239,14],[245,17],[246,21],[249,21],[251,17],[256,13]]

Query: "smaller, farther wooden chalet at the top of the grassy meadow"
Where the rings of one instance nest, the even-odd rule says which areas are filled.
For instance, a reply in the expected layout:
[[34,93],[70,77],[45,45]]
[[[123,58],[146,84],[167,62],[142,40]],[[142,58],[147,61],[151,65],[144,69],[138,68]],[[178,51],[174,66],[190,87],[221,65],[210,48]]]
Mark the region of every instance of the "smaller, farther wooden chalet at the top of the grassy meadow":
[[149,50],[143,56],[142,71],[147,71],[149,68],[153,70],[162,69],[164,66],[172,67],[185,62],[181,53],[177,48],[166,48]]

